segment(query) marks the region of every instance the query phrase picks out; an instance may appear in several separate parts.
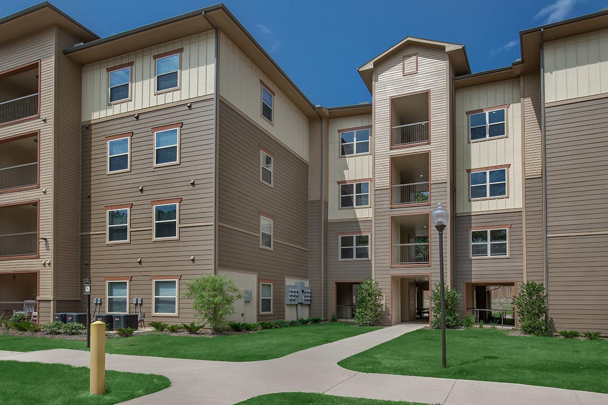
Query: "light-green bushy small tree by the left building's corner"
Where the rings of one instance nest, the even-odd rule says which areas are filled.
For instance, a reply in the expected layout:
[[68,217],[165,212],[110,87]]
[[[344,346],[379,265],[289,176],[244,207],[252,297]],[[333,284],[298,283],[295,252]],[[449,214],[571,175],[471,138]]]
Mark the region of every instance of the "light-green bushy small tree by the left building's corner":
[[211,327],[213,333],[221,332],[226,316],[235,312],[234,302],[243,293],[232,279],[220,274],[207,274],[188,282],[185,298],[192,299],[192,308],[198,318]]

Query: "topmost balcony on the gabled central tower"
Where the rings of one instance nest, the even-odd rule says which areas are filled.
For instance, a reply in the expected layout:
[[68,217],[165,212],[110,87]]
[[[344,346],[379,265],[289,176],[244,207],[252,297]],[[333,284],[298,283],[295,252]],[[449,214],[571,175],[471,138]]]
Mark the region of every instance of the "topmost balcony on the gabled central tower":
[[403,148],[430,140],[429,92],[390,99],[390,146]]

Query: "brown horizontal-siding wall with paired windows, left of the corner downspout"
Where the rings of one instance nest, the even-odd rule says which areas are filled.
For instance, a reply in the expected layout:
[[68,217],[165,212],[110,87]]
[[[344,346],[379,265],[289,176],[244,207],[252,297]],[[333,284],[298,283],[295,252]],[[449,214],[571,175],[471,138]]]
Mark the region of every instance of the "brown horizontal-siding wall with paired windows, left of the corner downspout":
[[[151,128],[180,122],[179,165],[153,168]],[[105,137],[126,131],[133,132],[131,171],[106,174]],[[152,316],[150,277],[181,276],[181,294],[188,280],[212,271],[213,101],[192,103],[190,109],[178,106],[145,112],[139,120],[124,117],[84,127],[81,170],[81,274],[92,277],[92,295],[103,299],[102,311],[106,311],[105,277],[132,277],[129,297],[143,298],[147,321],[195,319],[186,299],[179,299],[179,318]],[[153,242],[150,202],[179,197],[179,240]],[[127,203],[133,204],[130,243],[106,245],[105,206]],[[133,311],[131,303],[129,308]]]

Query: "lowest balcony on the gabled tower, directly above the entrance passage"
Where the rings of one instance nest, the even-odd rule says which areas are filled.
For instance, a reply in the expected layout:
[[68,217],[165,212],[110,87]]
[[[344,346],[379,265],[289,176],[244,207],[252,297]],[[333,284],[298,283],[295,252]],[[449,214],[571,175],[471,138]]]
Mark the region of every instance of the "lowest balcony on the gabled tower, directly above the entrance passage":
[[426,266],[430,263],[429,214],[393,216],[390,223],[391,265]]

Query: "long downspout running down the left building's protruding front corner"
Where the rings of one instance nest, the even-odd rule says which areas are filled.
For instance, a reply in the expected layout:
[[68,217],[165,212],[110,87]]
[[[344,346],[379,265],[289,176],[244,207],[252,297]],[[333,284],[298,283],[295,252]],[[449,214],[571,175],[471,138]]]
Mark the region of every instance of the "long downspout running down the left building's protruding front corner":
[[213,274],[218,274],[218,110],[219,110],[219,95],[218,95],[218,83],[219,83],[219,30],[218,27],[211,22],[205,12],[202,12],[204,19],[209,22],[209,25],[215,31],[215,58],[213,61],[213,76],[215,77],[213,83],[213,251],[211,258],[211,269]]

